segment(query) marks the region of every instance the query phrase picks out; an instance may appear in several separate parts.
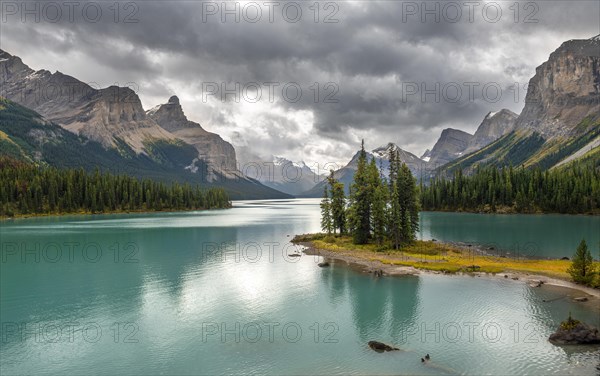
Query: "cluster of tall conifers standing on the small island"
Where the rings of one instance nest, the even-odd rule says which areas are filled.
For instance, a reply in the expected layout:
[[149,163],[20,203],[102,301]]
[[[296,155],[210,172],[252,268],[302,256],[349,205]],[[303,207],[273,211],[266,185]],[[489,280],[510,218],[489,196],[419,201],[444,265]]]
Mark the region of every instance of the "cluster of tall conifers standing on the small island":
[[389,242],[396,249],[415,239],[419,229],[416,180],[406,164],[401,163],[398,150],[391,147],[388,153],[386,177],[375,158],[367,161],[363,141],[348,198],[344,185],[331,171],[320,205],[324,232],[351,235],[355,244]]

